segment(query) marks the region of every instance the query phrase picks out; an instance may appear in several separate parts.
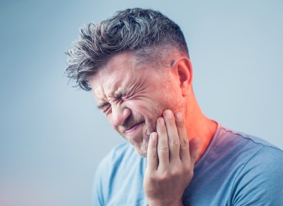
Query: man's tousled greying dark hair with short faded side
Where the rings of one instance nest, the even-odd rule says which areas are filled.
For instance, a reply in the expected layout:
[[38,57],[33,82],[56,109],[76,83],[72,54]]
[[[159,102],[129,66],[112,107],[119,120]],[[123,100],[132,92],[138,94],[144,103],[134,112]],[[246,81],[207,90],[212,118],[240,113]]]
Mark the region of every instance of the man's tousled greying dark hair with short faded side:
[[179,25],[161,12],[133,8],[116,12],[100,23],[80,28],[80,36],[66,54],[65,75],[89,91],[88,78],[99,71],[115,54],[131,51],[140,60],[154,62],[162,52],[174,48],[189,57]]

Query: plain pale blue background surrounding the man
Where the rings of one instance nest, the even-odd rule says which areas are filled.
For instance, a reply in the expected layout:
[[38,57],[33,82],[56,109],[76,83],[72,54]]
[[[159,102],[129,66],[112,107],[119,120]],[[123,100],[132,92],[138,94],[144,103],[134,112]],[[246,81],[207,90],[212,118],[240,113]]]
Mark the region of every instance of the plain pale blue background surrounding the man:
[[181,26],[208,117],[283,148],[282,1],[0,1],[1,206],[91,205],[95,168],[124,140],[67,85],[64,52],[84,23],[132,7]]

